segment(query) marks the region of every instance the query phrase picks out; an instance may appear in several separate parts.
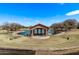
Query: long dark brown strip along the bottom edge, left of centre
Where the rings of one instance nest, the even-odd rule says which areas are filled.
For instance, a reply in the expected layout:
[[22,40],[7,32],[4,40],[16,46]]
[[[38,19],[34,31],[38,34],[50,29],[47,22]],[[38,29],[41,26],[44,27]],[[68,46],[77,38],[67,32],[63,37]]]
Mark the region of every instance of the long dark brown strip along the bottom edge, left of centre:
[[1,51],[0,55],[35,55],[35,51]]

